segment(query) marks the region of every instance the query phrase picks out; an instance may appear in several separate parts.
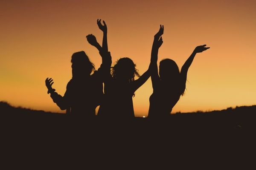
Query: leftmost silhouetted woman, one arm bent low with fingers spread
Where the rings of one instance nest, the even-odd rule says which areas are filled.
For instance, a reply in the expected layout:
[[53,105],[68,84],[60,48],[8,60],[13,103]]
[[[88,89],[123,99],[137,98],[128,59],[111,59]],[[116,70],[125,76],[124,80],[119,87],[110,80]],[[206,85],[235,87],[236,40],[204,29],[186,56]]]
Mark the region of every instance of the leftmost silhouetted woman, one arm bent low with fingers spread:
[[[97,43],[93,35],[87,35],[89,43],[93,44],[101,53],[102,47]],[[98,71],[94,71],[94,65],[84,51],[76,52],[71,57],[72,79],[67,83],[67,90],[64,96],[59,95],[52,88],[53,79],[46,79],[45,83],[48,88],[48,94],[51,94],[61,110],[67,110],[67,113],[76,117],[93,117],[95,109],[102,101],[103,97],[103,80],[102,73],[104,69],[109,68],[108,61],[102,55],[102,65]],[[111,63],[110,63],[111,65]],[[94,71],[94,73],[93,73]],[[93,73],[93,74],[91,74]]]

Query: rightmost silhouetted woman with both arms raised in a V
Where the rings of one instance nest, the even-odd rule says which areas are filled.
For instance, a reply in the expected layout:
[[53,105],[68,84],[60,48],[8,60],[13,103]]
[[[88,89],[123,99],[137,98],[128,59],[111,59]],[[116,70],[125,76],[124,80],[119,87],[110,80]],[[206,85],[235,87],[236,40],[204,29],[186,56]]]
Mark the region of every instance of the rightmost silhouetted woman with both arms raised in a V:
[[154,36],[154,42],[151,51],[151,81],[153,86],[153,94],[149,98],[150,106],[148,117],[168,116],[172,108],[180,99],[180,95],[184,94],[186,88],[186,77],[189,66],[191,65],[195,54],[207,50],[209,47],[200,45],[195,48],[191,56],[186,60],[179,71],[175,61],[172,59],[163,59],[159,65],[159,75],[157,68],[158,49],[163,43],[163,26]]

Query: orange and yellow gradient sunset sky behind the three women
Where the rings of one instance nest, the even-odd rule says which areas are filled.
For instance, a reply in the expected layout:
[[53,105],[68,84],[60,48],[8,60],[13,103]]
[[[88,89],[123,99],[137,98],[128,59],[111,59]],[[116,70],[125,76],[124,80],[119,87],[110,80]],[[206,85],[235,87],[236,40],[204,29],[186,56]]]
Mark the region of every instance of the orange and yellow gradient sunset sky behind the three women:
[[[61,112],[44,80],[63,95],[72,77],[71,55],[85,51],[99,68],[101,57],[87,34],[102,42],[97,18],[108,26],[112,61],[130,57],[147,70],[151,46],[164,25],[159,61],[179,68],[197,45],[185,96],[177,111],[210,111],[256,104],[256,0],[1,0],[0,100],[15,106]],[[136,116],[147,116],[151,80],[136,91]]]

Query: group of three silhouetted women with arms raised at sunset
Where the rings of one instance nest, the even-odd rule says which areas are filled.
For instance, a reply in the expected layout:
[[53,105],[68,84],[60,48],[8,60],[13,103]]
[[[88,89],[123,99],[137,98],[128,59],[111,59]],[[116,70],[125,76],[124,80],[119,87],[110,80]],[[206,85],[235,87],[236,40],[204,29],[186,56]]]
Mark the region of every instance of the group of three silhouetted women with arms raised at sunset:
[[[92,34],[87,35],[87,41],[99,50],[102,57],[100,68],[95,70],[93,63],[84,51],[74,53],[71,57],[72,79],[67,83],[64,96],[59,95],[52,88],[53,79],[45,80],[48,94],[53,102],[61,110],[67,110],[68,114],[76,117],[93,117],[96,115],[96,107],[100,106],[98,116],[131,119],[135,117],[132,97],[135,91],[151,76],[153,94],[149,98],[148,117],[168,116],[180,99],[180,95],[184,94],[187,72],[195,54],[205,51],[209,47],[197,46],[182,66],[181,71],[175,61],[163,59],[160,61],[158,74],[157,55],[163,44],[161,36],[164,30],[164,27],[160,25],[159,31],[154,35],[150,65],[148,70],[140,76],[134,62],[127,57],[118,59],[116,64],[111,67],[107,25],[104,21],[102,24],[101,20],[97,20],[97,24],[103,31],[102,46]],[[138,79],[135,80],[136,76]]]

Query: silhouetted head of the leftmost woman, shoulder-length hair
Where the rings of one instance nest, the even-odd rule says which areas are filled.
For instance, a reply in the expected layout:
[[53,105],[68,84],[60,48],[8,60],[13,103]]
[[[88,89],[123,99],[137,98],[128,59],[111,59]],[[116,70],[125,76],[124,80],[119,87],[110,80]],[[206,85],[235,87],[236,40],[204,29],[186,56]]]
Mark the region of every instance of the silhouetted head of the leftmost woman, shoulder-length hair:
[[71,57],[72,63],[72,76],[73,77],[84,77],[90,76],[95,70],[92,62],[84,51],[76,52]]

